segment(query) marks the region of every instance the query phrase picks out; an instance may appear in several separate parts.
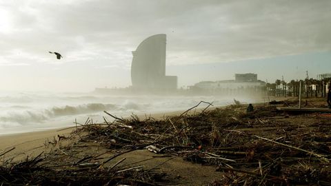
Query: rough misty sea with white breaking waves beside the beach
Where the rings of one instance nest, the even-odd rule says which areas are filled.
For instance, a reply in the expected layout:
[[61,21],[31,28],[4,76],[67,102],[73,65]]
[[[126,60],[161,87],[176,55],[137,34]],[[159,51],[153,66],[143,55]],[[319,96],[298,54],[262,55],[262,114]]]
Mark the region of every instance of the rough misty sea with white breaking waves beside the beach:
[[[121,96],[94,93],[0,92],[0,136],[73,127],[77,123],[103,123],[132,114],[146,115],[185,111],[200,101],[214,107],[234,103],[233,97],[217,96]],[[256,102],[238,99],[242,103]],[[199,107],[208,104],[201,103]]]

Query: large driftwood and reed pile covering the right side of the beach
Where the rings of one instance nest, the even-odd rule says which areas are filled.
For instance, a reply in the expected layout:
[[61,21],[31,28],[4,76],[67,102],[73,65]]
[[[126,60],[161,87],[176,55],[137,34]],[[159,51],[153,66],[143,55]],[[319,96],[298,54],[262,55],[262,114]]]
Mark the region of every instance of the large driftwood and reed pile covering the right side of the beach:
[[[205,102],[201,102],[205,103]],[[201,104],[199,103],[199,104]],[[198,104],[198,105],[199,105]],[[215,166],[214,185],[331,185],[331,121],[323,114],[289,115],[276,107],[247,105],[190,113],[161,120],[137,116],[103,125],[84,125],[83,138],[120,154],[148,149]],[[222,176],[221,176],[222,175]]]

